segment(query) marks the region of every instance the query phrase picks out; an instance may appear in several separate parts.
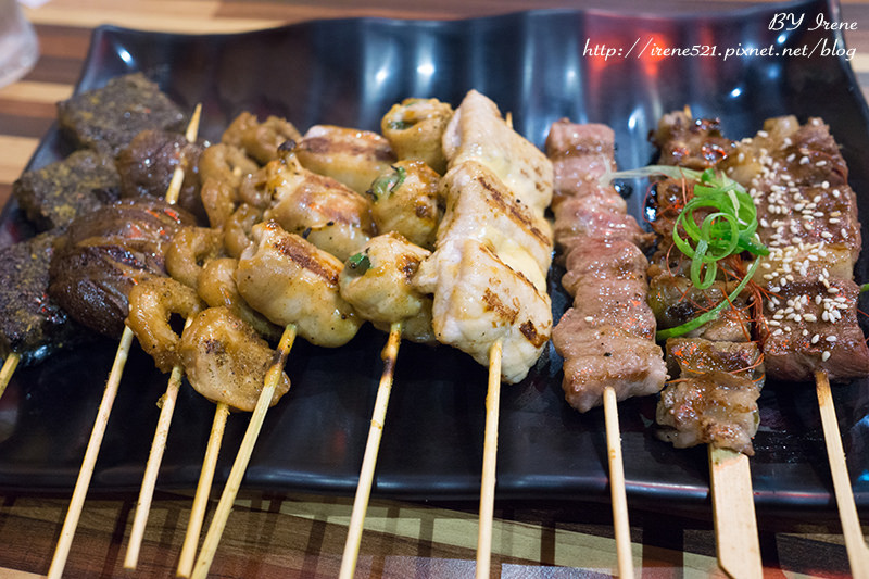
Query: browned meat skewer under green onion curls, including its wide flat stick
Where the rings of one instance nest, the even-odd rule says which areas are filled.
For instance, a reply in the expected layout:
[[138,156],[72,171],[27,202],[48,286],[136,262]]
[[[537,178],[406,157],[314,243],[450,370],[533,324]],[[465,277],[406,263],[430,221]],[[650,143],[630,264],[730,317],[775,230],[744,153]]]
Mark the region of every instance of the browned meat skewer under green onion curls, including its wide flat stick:
[[[713,166],[730,152],[730,143],[720,136],[716,123],[694,122],[688,112],[665,116],[655,141],[662,148],[663,164],[694,171]],[[730,307],[720,312],[715,319],[707,319],[706,324],[695,324],[696,327],[688,333],[692,338],[687,342],[668,341],[670,372],[678,379],[662,392],[658,421],[666,425],[662,431],[663,438],[679,448],[708,443],[719,565],[734,577],[760,577],[763,565],[751,473],[747,456],[738,452],[753,452],[751,437],[757,428],[756,399],[763,374],[755,376],[746,373],[753,368],[756,370],[760,362],[753,344],[746,344],[745,350],[736,347],[736,343],[750,338],[748,319],[742,314],[743,305],[726,300],[728,295],[731,295],[730,300],[741,300],[736,291],[741,288],[735,282],[706,279],[710,287],[700,289],[696,281],[688,279],[683,260],[677,257],[680,250],[684,249],[673,247],[673,231],[679,232],[680,237],[685,234],[683,226],[677,226],[676,219],[683,213],[688,219],[702,219],[715,211],[702,206],[697,209],[700,217],[688,213],[687,201],[691,194],[684,184],[685,179],[677,172],[673,178],[657,185],[657,218],[653,227],[659,235],[659,246],[650,269],[650,285],[651,303],[659,324],[658,336],[669,335],[673,331],[669,328],[681,326],[687,318],[703,319],[694,317],[703,310],[723,305]],[[730,203],[735,205],[735,190],[730,188],[727,194],[730,196]],[[747,197],[744,192],[742,194]],[[743,201],[751,202],[747,199]],[[727,202],[725,209],[741,211],[731,209]],[[739,219],[742,218],[740,213]],[[750,235],[751,231],[746,234]],[[696,261],[700,257],[694,259]],[[731,261],[735,259],[729,257]],[[710,268],[710,265],[705,267]],[[732,268],[730,276],[745,277],[745,272],[740,269],[743,266],[739,263],[733,262],[729,267]],[[711,272],[707,269],[700,273],[708,275]],[[735,343],[729,345],[728,342]]]

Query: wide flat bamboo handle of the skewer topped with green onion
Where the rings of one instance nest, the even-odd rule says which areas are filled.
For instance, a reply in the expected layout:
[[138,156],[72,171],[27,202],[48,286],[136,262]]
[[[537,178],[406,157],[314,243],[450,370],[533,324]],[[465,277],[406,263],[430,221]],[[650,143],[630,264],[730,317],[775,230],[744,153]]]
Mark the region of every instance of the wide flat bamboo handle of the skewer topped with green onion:
[[764,566],[748,457],[707,445],[718,565],[730,577],[761,579]]

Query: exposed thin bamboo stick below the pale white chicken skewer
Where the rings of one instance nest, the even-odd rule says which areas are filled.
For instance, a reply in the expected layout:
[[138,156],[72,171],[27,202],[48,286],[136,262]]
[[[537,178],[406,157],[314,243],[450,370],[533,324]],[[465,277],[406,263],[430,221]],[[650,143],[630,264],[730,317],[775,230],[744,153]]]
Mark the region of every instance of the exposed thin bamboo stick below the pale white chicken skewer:
[[489,389],[486,394],[486,436],[482,454],[482,487],[477,532],[477,579],[489,577],[492,559],[492,519],[495,502],[495,463],[498,458],[498,421],[501,407],[501,340],[489,351]]

